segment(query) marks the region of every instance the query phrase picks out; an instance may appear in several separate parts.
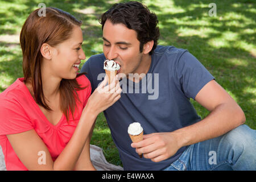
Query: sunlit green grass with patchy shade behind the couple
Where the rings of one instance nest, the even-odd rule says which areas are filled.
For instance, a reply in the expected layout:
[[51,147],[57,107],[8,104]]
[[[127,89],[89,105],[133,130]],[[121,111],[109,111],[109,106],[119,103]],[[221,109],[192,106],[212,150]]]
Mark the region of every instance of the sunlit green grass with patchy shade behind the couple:
[[[27,16],[42,1],[0,1],[0,92],[23,77],[22,52],[17,41]],[[86,60],[102,52],[98,17],[119,1],[46,1],[83,21]],[[217,16],[208,15],[209,3],[217,5]],[[205,65],[216,81],[237,101],[246,124],[256,129],[256,47],[254,1],[143,1],[159,18],[159,44],[188,49]],[[11,36],[11,38],[6,36]],[[14,40],[13,40],[14,39]],[[85,61],[82,61],[84,63]],[[191,100],[201,117],[209,112]],[[106,159],[121,165],[106,119],[98,116],[92,144],[104,150]]]

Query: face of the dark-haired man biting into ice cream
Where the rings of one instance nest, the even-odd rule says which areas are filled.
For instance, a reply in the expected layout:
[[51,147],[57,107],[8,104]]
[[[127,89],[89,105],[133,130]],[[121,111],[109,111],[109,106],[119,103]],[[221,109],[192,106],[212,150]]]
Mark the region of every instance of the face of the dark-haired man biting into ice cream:
[[113,24],[106,20],[103,28],[103,51],[106,59],[120,65],[117,73],[141,73],[143,53],[139,52],[137,32],[122,23]]

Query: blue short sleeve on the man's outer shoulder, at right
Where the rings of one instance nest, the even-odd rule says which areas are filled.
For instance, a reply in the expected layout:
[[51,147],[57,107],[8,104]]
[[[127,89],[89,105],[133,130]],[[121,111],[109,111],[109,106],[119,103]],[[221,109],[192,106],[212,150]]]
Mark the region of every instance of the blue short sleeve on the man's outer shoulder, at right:
[[209,81],[215,79],[209,71],[188,51],[185,51],[178,61],[177,76],[181,89],[187,98],[195,97]]

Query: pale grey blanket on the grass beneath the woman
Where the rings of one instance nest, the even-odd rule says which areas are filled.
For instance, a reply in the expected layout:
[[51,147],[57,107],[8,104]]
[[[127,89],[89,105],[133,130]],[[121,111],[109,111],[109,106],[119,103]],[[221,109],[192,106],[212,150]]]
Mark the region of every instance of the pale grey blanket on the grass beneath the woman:
[[[115,166],[106,161],[102,149],[98,146],[90,144],[90,160],[98,171],[123,171],[121,166]],[[0,146],[0,171],[6,171],[5,156]]]

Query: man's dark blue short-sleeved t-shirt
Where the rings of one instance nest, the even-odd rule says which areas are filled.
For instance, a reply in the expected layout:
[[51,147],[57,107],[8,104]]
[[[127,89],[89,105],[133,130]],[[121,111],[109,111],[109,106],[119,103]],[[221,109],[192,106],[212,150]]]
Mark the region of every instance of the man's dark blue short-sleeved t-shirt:
[[[94,55],[81,69],[88,73],[92,92],[105,76],[104,60],[104,54]],[[135,148],[130,146],[128,126],[139,122],[144,134],[150,134],[175,131],[200,121],[189,98],[195,100],[201,88],[213,79],[187,50],[158,46],[151,55],[150,69],[140,82],[121,80],[121,98],[104,114],[125,170],[161,170],[179,158],[186,147],[158,163],[139,158]]]

